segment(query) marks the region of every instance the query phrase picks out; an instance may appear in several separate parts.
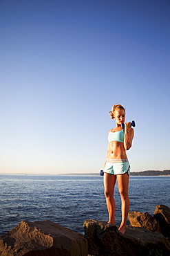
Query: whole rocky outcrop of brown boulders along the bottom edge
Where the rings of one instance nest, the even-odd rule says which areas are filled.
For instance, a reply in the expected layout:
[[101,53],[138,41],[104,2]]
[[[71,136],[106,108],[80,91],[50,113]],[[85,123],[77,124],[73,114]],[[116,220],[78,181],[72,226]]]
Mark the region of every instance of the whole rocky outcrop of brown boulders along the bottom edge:
[[148,212],[129,212],[129,221],[123,235],[113,224],[89,219],[84,222],[85,237],[52,221],[21,221],[0,237],[0,255],[170,255],[170,208],[157,205],[153,217]]

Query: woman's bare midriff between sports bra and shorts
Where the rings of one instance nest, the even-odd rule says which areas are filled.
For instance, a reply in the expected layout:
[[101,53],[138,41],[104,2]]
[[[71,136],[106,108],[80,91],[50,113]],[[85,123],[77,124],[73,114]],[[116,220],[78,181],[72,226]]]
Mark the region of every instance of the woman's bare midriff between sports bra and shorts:
[[108,145],[106,158],[125,159],[127,154],[123,143],[111,141]]

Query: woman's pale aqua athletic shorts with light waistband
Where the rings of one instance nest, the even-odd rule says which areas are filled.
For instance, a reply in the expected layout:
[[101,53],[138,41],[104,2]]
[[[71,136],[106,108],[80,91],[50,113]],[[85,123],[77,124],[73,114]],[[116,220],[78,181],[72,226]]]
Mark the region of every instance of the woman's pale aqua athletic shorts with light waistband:
[[106,164],[103,172],[107,174],[128,174],[130,175],[130,165],[128,159],[106,159]]

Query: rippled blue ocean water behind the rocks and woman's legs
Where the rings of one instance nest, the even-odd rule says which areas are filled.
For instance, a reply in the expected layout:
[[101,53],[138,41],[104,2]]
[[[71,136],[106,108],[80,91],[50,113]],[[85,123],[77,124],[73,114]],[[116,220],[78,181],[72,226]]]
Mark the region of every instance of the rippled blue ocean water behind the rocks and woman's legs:
[[[170,208],[170,176],[130,176],[130,211],[153,212],[158,204]],[[86,219],[108,221],[103,176],[0,174],[0,235],[20,221],[50,220],[77,232]],[[120,224],[120,195],[115,189],[116,225]]]

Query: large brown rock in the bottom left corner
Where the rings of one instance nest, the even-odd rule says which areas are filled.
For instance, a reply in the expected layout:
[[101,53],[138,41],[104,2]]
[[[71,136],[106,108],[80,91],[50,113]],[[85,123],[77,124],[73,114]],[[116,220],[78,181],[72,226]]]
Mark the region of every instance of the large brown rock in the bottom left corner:
[[52,221],[21,221],[0,237],[1,256],[87,256],[87,240]]

